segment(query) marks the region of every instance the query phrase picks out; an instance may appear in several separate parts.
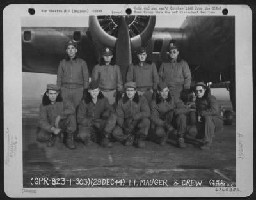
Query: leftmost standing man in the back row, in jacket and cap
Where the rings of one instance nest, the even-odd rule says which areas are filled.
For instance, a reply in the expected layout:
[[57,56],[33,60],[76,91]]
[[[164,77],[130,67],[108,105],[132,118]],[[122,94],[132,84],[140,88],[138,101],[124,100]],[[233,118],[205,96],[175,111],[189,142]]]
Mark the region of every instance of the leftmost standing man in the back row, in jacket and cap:
[[88,89],[89,72],[86,62],[77,58],[77,44],[69,41],[66,45],[67,56],[60,61],[57,84],[63,98],[73,103],[76,108],[83,98],[84,89]]

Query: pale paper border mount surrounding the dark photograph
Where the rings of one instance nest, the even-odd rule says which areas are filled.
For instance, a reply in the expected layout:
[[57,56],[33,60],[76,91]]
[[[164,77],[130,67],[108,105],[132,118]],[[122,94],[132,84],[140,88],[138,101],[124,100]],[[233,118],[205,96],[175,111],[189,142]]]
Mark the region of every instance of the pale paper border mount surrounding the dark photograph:
[[[21,18],[29,17],[28,8],[81,9],[83,5],[13,4],[3,11],[4,47],[4,191],[9,197],[245,197],[253,192],[253,86],[252,86],[252,10],[246,5],[221,5],[235,16],[236,35],[236,188],[237,192],[204,188],[23,188],[22,166],[22,51]],[[86,5],[87,13],[65,16],[113,15],[138,5]],[[143,5],[163,6],[163,5]],[[195,6],[195,5],[191,5]],[[204,5],[200,5],[204,6]],[[220,5],[217,5],[220,6]],[[15,15],[13,16],[13,13]],[[63,16],[64,13],[36,12],[36,16]],[[140,14],[141,15],[141,14]],[[148,15],[148,14],[147,14]],[[153,15],[157,15],[154,13]],[[223,15],[222,9],[207,16]],[[30,16],[33,17],[33,16]],[[13,56],[14,55],[14,56]],[[15,83],[13,82],[15,80]],[[246,89],[245,89],[246,88]],[[14,98],[15,95],[15,98]],[[18,97],[17,97],[18,96]],[[243,98],[246,96],[246,98]],[[15,104],[12,102],[15,100]],[[241,136],[243,135],[243,136]],[[241,141],[241,142],[238,142]],[[243,146],[244,159],[239,159]]]

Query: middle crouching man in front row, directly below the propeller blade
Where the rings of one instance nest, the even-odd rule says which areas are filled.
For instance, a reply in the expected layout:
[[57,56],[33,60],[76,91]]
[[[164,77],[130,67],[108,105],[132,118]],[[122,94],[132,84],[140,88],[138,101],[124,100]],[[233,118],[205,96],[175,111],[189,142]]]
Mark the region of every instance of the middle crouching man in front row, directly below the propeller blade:
[[[117,125],[113,137],[125,146],[145,148],[143,141],[150,127],[150,109],[144,96],[138,95],[136,82],[125,83],[125,94],[116,107]],[[135,139],[134,139],[135,138]]]

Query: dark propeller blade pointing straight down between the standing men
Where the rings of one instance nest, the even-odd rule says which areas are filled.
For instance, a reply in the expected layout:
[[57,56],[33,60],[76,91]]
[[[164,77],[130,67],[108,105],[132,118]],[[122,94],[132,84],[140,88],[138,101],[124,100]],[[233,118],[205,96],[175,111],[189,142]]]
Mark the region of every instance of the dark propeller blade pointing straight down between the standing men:
[[131,41],[125,17],[121,16],[118,24],[118,36],[116,40],[116,65],[120,67],[123,82],[126,80],[128,66],[132,62]]

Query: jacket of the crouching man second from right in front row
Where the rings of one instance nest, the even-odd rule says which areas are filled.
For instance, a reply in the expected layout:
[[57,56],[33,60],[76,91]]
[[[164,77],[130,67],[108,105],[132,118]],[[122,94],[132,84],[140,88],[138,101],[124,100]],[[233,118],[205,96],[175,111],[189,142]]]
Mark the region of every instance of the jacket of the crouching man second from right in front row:
[[188,109],[186,105],[175,96],[171,96],[168,93],[166,100],[163,100],[159,94],[156,96],[156,100],[151,102],[151,120],[155,125],[164,126],[163,116],[166,112],[174,110],[174,114],[186,114]]

